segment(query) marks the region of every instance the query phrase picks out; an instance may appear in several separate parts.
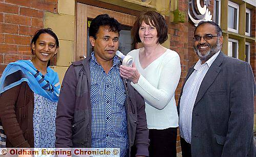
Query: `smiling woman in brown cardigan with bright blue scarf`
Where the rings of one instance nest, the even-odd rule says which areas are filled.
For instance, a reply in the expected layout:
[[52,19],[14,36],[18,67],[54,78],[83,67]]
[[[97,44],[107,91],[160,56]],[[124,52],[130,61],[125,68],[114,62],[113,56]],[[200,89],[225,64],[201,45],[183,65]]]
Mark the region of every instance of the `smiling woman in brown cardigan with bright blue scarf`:
[[58,47],[51,29],[38,30],[31,41],[35,57],[5,68],[0,79],[0,118],[6,147],[54,147],[60,85],[48,63]]

